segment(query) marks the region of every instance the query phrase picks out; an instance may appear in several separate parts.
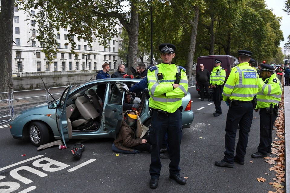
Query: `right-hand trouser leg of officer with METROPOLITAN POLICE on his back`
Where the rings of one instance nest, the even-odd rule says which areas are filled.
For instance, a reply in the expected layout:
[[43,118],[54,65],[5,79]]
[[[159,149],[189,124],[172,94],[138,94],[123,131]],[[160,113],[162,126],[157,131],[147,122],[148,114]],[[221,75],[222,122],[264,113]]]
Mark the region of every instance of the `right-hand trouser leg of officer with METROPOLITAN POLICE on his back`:
[[245,111],[240,120],[239,141],[236,148],[236,158],[243,162],[245,160],[246,148],[248,145],[249,131],[253,121],[253,104],[241,103]]

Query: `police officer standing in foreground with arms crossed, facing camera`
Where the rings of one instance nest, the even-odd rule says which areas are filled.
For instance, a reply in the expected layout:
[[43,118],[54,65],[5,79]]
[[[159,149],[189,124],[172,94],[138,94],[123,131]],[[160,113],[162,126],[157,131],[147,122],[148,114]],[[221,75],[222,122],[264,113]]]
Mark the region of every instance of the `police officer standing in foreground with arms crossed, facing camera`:
[[186,184],[180,176],[180,143],[182,138],[181,103],[187,95],[188,82],[185,69],[172,63],[176,47],[169,43],[159,46],[162,63],[149,68],[148,89],[151,109],[150,141],[152,143],[150,164],[150,188],[157,188],[161,162],[159,152],[165,133],[168,134],[169,178]]

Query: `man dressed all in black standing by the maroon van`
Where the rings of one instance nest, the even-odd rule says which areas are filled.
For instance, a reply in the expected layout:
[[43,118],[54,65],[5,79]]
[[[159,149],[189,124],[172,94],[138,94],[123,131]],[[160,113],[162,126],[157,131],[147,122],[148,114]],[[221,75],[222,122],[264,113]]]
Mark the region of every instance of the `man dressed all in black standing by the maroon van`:
[[206,95],[208,96],[208,101],[211,101],[211,92],[209,91],[209,80],[211,75],[209,74],[209,71],[204,68],[203,64],[200,64],[199,67],[200,69],[195,74],[195,81],[200,87],[201,101],[203,101],[205,97],[204,88]]

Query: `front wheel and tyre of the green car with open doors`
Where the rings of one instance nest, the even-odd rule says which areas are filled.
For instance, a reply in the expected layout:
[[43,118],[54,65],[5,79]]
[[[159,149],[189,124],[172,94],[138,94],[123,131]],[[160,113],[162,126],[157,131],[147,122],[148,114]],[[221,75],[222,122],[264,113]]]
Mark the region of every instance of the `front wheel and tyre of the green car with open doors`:
[[47,125],[42,122],[32,122],[28,128],[29,140],[37,147],[49,141],[49,131]]

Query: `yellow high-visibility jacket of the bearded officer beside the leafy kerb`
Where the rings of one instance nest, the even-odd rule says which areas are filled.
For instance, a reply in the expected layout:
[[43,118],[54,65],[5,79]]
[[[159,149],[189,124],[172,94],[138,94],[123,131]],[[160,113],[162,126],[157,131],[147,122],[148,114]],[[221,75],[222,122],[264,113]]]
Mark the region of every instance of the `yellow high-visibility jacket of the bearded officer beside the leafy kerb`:
[[273,106],[279,104],[283,88],[276,73],[272,74],[265,81],[259,78],[258,86],[256,109],[269,108],[270,104],[273,104]]

